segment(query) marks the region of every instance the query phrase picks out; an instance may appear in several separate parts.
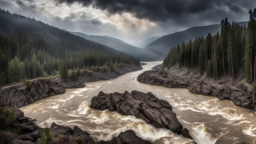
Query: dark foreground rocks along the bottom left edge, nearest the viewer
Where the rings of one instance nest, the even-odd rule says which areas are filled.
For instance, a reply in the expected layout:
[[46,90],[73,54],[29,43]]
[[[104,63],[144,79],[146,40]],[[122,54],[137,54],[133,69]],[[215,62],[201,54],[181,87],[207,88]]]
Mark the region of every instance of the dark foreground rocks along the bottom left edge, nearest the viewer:
[[[81,130],[75,126],[73,129],[55,124],[54,122],[48,127],[49,133],[43,132],[43,128],[35,125],[35,119],[24,116],[24,113],[16,109],[13,118],[5,117],[6,113],[0,112],[0,143],[40,143],[41,136],[50,136],[50,143],[142,143],[150,144],[148,140],[142,140],[132,130],[121,132],[117,137],[110,141],[96,142],[87,131]],[[44,139],[46,140],[46,139]],[[41,140],[42,141],[42,140]]]

